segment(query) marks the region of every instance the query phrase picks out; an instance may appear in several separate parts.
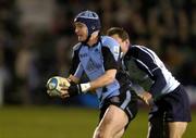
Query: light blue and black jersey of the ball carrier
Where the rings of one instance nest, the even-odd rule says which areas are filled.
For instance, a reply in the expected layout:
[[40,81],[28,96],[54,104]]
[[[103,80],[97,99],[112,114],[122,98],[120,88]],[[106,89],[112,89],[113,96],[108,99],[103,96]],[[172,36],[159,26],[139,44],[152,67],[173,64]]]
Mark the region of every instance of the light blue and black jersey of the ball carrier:
[[[81,78],[82,74],[85,73],[90,80],[95,80],[108,70],[118,70],[120,46],[111,37],[101,36],[99,41],[91,47],[79,42],[73,50],[70,74],[77,78]],[[96,89],[100,106],[106,98],[120,95],[119,89],[120,81],[118,79],[106,87]]]

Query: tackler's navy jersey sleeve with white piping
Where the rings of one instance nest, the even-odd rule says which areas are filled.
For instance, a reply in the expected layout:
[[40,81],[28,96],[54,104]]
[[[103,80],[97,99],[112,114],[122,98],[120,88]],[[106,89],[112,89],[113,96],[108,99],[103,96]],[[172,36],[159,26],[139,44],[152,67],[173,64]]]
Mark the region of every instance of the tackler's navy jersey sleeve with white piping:
[[152,93],[154,98],[160,95],[161,90],[167,85],[166,78],[159,67],[154,54],[144,48],[132,47],[128,49],[127,57],[133,57],[137,66],[147,73],[149,77],[154,80],[149,92]]

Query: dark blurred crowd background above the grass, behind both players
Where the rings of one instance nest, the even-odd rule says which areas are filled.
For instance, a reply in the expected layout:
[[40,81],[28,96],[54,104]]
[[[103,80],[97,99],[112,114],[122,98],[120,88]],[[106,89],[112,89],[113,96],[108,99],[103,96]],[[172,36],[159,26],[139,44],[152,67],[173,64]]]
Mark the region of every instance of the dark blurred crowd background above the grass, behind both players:
[[0,0],[0,105],[3,110],[8,105],[97,108],[94,95],[63,101],[49,98],[45,88],[49,77],[68,76],[71,50],[77,42],[73,20],[82,10],[100,15],[102,34],[109,27],[120,26],[130,33],[132,45],[152,49],[186,87],[194,111],[195,0]]

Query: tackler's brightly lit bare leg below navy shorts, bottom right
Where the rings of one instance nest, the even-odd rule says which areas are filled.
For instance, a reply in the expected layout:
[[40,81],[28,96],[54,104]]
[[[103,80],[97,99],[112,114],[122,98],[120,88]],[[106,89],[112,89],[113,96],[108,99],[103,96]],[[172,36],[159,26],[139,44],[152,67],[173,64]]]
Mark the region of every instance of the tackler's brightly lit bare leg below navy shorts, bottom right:
[[170,138],[182,138],[186,130],[187,122],[170,122],[168,123]]

